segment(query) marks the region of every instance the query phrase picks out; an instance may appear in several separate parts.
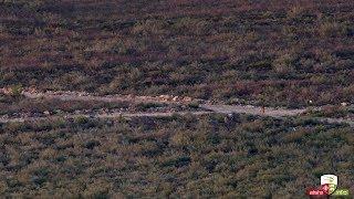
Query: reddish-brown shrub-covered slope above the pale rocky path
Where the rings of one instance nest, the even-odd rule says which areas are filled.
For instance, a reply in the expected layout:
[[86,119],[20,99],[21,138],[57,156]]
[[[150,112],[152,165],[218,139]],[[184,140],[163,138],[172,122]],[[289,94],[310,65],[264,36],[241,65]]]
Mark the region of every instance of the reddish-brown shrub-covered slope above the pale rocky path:
[[0,86],[354,103],[354,2],[0,1]]

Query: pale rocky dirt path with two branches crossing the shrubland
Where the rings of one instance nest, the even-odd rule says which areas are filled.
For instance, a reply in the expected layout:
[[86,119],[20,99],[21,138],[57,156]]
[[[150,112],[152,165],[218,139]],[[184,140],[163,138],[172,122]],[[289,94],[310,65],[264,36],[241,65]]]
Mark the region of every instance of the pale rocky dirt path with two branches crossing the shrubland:
[[[28,92],[24,91],[22,94],[28,98],[48,98],[48,100],[61,100],[61,101],[98,101],[98,102],[135,102],[135,103],[163,103],[163,104],[188,104],[192,102],[190,98],[165,98],[165,97],[152,97],[152,96],[118,96],[118,95],[108,95],[108,96],[97,96],[90,95],[87,93],[79,93],[79,92],[45,92],[45,93],[37,93],[37,92]],[[166,96],[166,95],[164,95]],[[46,117],[23,117],[23,118],[1,118],[0,123],[11,123],[11,122],[24,122],[24,121],[41,121],[48,118],[75,118],[75,117],[96,117],[96,118],[113,118],[113,117],[166,117],[171,116],[174,114],[185,115],[185,114],[194,114],[194,115],[204,115],[210,113],[221,113],[221,114],[249,114],[249,115],[259,115],[259,116],[270,116],[270,117],[290,117],[290,116],[299,116],[306,112],[305,108],[298,109],[288,109],[288,108],[272,108],[266,107],[264,112],[262,112],[261,107],[251,106],[251,105],[225,105],[225,104],[211,104],[204,101],[198,101],[199,107],[204,111],[198,112],[167,112],[167,113],[112,113],[112,114],[74,114],[74,115],[64,115],[64,116],[46,116]],[[321,109],[321,107],[314,107],[312,109]],[[345,123],[351,126],[354,126],[354,121],[352,119],[343,119],[343,118],[312,118],[324,123]]]

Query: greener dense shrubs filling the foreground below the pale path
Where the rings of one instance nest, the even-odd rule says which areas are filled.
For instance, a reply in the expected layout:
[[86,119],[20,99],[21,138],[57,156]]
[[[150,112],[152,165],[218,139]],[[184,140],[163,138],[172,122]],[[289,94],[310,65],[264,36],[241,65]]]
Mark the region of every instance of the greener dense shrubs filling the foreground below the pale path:
[[303,198],[354,191],[353,128],[221,115],[0,126],[0,196]]

